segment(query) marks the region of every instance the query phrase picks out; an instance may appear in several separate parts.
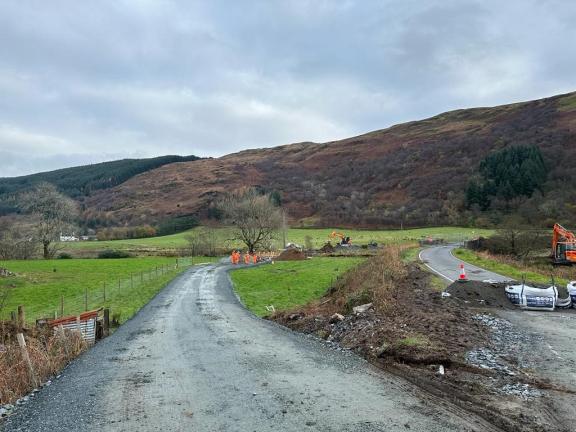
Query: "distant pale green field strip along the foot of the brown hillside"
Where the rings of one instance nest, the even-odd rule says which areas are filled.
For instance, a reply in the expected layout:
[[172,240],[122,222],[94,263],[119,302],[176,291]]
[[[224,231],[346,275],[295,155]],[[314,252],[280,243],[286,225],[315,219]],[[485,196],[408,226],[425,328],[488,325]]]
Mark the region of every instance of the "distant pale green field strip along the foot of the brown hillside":
[[[201,230],[203,228],[195,228]],[[194,231],[191,230],[191,231]],[[186,238],[191,231],[179,234],[172,234],[163,237],[151,237],[136,240],[112,240],[112,241],[92,241],[92,242],[75,242],[67,243],[66,248],[70,251],[90,251],[99,249],[123,249],[123,250],[160,250],[183,248],[187,245]],[[348,230],[339,228],[290,228],[287,232],[287,241],[305,245],[306,237],[309,236],[312,245],[316,248],[321,247],[329,240],[332,231],[345,233],[352,238],[354,244],[367,244],[371,241],[378,243],[402,243],[418,240],[424,237],[443,238],[447,241],[461,241],[473,238],[479,235],[489,236],[492,230],[460,228],[460,227],[436,227],[436,228],[418,228],[406,230]],[[240,244],[230,242],[231,237],[229,228],[219,228],[216,230],[216,237],[220,247],[240,247]],[[281,236],[280,236],[281,237]],[[277,241],[280,247],[280,242]],[[332,240],[334,244],[334,240]]]

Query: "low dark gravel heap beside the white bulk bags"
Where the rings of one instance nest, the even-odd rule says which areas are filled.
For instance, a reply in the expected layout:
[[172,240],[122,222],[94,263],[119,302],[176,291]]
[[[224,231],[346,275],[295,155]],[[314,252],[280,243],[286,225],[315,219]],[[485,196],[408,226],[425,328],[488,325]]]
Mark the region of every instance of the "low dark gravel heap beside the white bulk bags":
[[494,307],[501,309],[517,309],[508,297],[504,288],[507,284],[480,281],[454,282],[446,291],[453,299],[462,301],[465,305],[474,307]]

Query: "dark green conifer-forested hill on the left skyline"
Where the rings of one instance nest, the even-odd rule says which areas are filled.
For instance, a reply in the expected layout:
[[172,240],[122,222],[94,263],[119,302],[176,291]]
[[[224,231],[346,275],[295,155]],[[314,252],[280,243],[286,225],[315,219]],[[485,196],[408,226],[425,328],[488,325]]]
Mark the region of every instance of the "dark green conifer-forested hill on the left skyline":
[[126,180],[174,162],[189,162],[196,156],[160,156],[149,159],[122,159],[93,165],[63,168],[20,177],[0,178],[0,199],[29,189],[40,182],[54,184],[72,198],[81,198],[92,192],[117,186]]

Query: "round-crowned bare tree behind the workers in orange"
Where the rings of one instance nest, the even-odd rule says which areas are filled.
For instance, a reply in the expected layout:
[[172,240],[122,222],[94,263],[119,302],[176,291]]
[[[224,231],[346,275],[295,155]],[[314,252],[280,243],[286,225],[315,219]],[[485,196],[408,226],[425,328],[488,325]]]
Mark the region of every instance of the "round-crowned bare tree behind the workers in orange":
[[225,222],[234,228],[234,240],[244,243],[250,253],[269,245],[282,226],[281,209],[274,205],[270,195],[255,189],[230,193],[218,207]]

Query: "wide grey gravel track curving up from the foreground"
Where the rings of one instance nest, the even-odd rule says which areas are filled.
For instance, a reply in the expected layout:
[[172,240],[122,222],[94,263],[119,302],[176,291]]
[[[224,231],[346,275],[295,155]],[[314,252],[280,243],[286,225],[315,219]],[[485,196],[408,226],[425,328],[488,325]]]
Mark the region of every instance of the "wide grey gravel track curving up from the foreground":
[[254,317],[224,265],[180,275],[3,429],[491,430],[356,355]]

